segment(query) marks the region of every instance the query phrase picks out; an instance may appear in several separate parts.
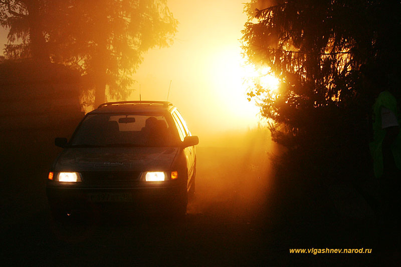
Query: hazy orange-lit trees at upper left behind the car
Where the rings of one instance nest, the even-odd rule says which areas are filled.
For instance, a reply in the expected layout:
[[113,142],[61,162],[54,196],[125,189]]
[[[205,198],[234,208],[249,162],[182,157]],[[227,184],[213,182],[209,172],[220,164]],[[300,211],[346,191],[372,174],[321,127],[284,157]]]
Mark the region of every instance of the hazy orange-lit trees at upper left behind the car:
[[[35,16],[30,9],[33,2]],[[22,40],[6,52],[33,58],[41,54],[42,59],[79,69],[84,88],[95,89],[95,106],[105,101],[106,85],[110,97],[127,97],[131,75],[143,54],[169,46],[177,26],[165,0],[1,0],[1,4],[9,42]],[[31,15],[29,24],[25,17]],[[37,39],[43,42],[34,41],[32,33],[39,33]]]

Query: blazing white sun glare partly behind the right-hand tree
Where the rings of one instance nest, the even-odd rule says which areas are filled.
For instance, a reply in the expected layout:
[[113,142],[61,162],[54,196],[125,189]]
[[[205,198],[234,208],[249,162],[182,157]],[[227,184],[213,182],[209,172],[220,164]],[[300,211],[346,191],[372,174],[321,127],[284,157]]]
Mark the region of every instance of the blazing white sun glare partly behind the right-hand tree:
[[242,120],[248,126],[257,125],[260,108],[254,101],[248,101],[246,93],[255,83],[270,93],[277,93],[279,80],[270,74],[270,68],[248,64],[238,47],[215,53],[211,72],[217,96],[224,105],[222,108],[229,110],[237,121]]

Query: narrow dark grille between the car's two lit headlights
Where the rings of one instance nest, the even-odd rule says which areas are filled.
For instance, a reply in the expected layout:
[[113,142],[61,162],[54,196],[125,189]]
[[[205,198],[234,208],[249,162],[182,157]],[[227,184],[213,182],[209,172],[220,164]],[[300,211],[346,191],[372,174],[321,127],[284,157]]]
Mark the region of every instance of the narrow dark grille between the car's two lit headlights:
[[81,172],[84,182],[117,182],[117,181],[137,181],[140,172],[120,171],[120,172]]

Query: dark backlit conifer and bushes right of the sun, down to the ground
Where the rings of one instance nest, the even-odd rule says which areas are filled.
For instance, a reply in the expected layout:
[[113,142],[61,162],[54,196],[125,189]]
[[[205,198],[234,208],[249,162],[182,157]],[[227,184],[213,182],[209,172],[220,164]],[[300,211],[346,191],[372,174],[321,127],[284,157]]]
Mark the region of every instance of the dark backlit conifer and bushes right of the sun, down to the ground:
[[[245,55],[280,79],[279,92],[259,103],[262,115],[274,121],[275,141],[309,149],[326,165],[332,164],[328,152],[346,161],[344,153],[366,151],[374,98],[385,89],[400,96],[400,50],[394,39],[401,30],[400,8],[399,1],[382,0],[272,0],[245,6]],[[256,85],[249,96],[263,90]]]

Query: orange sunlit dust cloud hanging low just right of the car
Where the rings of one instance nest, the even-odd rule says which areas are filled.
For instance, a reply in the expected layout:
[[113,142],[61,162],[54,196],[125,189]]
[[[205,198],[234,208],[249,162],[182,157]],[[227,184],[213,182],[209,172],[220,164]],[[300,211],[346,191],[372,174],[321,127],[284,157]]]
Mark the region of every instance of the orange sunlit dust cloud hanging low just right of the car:
[[259,128],[245,134],[227,133],[207,143],[213,146],[198,146],[196,150],[196,193],[187,212],[238,221],[239,217],[251,220],[266,211],[274,185],[271,158],[280,153],[270,141],[269,131]]

